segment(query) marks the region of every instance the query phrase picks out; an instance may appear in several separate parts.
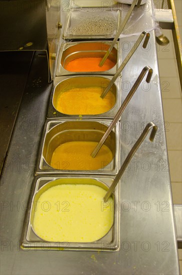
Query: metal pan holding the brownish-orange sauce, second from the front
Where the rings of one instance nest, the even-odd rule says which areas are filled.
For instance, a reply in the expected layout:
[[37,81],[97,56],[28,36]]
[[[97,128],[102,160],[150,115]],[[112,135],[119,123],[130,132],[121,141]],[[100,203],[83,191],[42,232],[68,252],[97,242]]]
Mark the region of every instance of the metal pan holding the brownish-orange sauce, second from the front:
[[94,141],[98,142],[108,128],[109,120],[86,120],[86,119],[64,119],[46,122],[40,150],[37,157],[35,174],[116,174],[119,167],[119,122],[109,134],[105,145],[112,152],[112,160],[108,163],[106,159],[100,161],[97,170],[69,170],[69,162],[58,162],[57,169],[50,166],[53,151],[61,144],[69,141]]

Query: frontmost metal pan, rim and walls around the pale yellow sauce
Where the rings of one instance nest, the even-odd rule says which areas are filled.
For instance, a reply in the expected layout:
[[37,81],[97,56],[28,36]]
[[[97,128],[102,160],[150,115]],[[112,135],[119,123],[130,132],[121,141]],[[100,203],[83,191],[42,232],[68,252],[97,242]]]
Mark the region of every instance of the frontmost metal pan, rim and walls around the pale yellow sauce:
[[[36,211],[39,196],[48,188],[58,184],[91,184],[107,190],[113,181],[113,177],[86,175],[64,175],[61,178],[56,175],[48,177],[35,177],[32,185],[29,203],[26,210],[24,227],[21,239],[22,249],[46,249],[46,250],[100,250],[118,251],[119,250],[119,184],[115,188],[112,199],[114,220],[110,230],[100,239],[93,242],[51,242],[41,239],[33,229],[33,218]],[[103,207],[105,202],[103,201]],[[101,205],[100,205],[101,207]],[[96,229],[96,228],[95,228]]]

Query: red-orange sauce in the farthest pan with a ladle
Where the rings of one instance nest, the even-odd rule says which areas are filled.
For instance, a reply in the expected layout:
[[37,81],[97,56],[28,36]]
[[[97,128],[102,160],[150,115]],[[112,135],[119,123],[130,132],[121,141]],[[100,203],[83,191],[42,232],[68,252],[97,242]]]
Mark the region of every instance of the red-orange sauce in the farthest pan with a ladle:
[[64,68],[69,71],[105,71],[111,69],[115,63],[107,58],[103,66],[99,67],[101,57],[81,57],[69,61]]

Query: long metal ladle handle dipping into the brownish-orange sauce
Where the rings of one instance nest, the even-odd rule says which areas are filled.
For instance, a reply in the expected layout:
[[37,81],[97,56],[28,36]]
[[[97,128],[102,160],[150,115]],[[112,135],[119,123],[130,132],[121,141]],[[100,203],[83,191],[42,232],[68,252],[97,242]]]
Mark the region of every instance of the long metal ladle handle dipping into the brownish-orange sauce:
[[125,107],[127,106],[127,103],[129,102],[129,100],[131,99],[133,93],[136,91],[137,87],[139,86],[141,80],[143,79],[145,73],[148,71],[148,74],[146,76],[146,82],[149,83],[153,70],[149,67],[149,66],[145,66],[141,73],[139,74],[138,78],[136,79],[134,85],[132,86],[131,90],[129,91],[128,95],[126,96],[124,102],[122,103],[122,105],[120,106],[118,112],[116,113],[116,115],[114,116],[112,122],[110,123],[108,129],[106,130],[106,132],[104,133],[104,135],[102,136],[102,138],[100,139],[100,141],[98,142],[98,144],[96,145],[96,147],[94,148],[94,150],[91,153],[92,157],[95,157],[95,155],[97,154],[97,152],[99,151],[99,149],[101,148],[101,146],[103,145],[103,143],[105,142],[105,139],[108,137],[109,133],[111,132],[111,130],[113,129],[113,127],[115,126],[116,122],[118,121],[120,115],[122,114],[123,110],[125,109]]

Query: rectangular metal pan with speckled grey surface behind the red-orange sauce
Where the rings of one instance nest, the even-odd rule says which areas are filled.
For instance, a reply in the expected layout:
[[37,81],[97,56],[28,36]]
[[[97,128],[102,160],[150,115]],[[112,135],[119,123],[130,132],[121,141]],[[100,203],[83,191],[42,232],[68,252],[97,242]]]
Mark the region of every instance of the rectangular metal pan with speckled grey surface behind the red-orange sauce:
[[63,39],[110,39],[119,27],[118,8],[82,7],[70,9],[62,34]]

